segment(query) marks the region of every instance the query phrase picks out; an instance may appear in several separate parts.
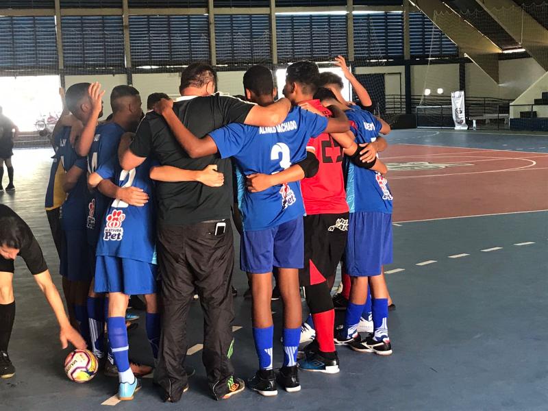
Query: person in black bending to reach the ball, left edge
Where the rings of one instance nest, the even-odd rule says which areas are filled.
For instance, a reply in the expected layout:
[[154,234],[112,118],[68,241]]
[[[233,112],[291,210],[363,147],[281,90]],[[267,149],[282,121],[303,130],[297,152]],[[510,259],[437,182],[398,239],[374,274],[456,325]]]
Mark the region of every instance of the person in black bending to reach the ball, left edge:
[[0,204],[0,377],[10,378],[15,367],[8,356],[8,343],[15,319],[15,299],[13,295],[14,260],[21,256],[40,290],[44,293],[61,327],[59,338],[63,348],[72,343],[76,348],[85,349],[84,338],[71,326],[66,317],[63,302],[42,255],[40,245],[29,226],[8,206]]

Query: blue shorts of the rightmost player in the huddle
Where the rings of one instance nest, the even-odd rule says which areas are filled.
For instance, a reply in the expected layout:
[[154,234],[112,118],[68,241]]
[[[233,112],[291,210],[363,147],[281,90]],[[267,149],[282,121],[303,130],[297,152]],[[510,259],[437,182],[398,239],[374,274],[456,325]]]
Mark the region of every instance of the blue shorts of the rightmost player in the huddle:
[[352,277],[373,277],[392,262],[392,214],[352,212],[345,249],[347,273]]

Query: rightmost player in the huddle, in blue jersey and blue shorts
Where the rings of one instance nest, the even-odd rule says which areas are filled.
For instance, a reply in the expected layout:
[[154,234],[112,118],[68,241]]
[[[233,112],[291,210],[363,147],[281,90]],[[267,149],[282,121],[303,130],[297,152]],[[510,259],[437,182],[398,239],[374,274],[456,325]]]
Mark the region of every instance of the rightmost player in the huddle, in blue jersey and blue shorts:
[[[386,123],[370,112],[356,106],[348,108],[338,103],[326,89],[322,91],[319,97],[323,102],[339,105],[341,110],[345,110],[352,121],[351,132],[358,143],[371,143],[379,133],[390,132]],[[376,162],[378,164],[380,160]],[[345,186],[350,209],[345,269],[351,277],[351,290],[345,323],[335,340],[355,351],[389,356],[392,347],[387,326],[388,288],[382,266],[392,262],[393,197],[384,175],[378,171],[360,169],[348,161],[345,162]],[[368,292],[368,284],[371,293]],[[366,307],[368,301],[373,316],[373,334],[362,341],[358,324],[362,316],[369,314]]]

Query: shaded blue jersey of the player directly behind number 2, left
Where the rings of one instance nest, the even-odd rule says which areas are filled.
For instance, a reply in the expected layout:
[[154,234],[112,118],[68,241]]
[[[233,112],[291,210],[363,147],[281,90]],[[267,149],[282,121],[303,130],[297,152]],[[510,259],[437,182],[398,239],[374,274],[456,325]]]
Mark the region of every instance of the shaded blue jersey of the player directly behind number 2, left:
[[[117,155],[120,138],[124,129],[116,123],[104,123],[95,129],[95,136],[88,153],[88,173],[95,173],[97,168],[108,162],[112,156]],[[110,199],[94,190],[88,196],[88,219],[86,228],[88,232],[88,244],[97,245],[99,238],[99,225],[105,215]]]

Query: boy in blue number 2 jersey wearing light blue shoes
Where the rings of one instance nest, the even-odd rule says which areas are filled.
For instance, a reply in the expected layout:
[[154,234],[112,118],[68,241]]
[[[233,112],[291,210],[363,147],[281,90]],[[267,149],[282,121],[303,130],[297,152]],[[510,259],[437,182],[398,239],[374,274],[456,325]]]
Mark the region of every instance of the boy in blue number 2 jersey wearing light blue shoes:
[[[120,150],[129,147],[132,134],[125,134]],[[88,184],[97,187],[104,179],[115,179],[119,188],[134,187],[152,196],[153,183],[149,178],[151,161],[136,169],[123,171],[114,155],[88,177]],[[160,316],[156,301],[156,258],[153,203],[132,206],[115,198],[108,206],[99,225],[95,292],[109,293],[108,334],[114,362],[118,369],[121,400],[133,399],[140,388],[139,380],[129,366],[125,311],[130,295],[145,295],[147,301],[147,337],[153,357],[158,357]]]

